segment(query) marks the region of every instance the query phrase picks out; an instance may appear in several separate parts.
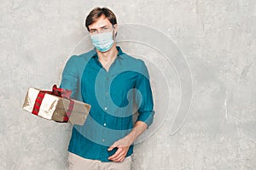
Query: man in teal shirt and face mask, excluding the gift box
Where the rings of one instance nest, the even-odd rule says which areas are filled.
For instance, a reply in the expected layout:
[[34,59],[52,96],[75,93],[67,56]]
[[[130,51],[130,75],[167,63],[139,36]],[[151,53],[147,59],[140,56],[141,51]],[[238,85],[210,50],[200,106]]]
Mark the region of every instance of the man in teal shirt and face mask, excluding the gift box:
[[[91,105],[83,126],[74,125],[69,169],[131,169],[133,143],[153,122],[148,69],[116,46],[118,26],[108,8],[94,8],[85,20],[95,48],[68,59],[61,88]],[[137,122],[133,126],[133,101]]]

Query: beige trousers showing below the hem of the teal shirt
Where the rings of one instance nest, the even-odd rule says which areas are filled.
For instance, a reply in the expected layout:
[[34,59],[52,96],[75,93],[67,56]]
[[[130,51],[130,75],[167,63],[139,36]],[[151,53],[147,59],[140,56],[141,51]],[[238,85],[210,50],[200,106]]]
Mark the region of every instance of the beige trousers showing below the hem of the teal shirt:
[[122,162],[102,162],[98,160],[84,159],[81,156],[68,153],[68,170],[131,170],[131,156]]

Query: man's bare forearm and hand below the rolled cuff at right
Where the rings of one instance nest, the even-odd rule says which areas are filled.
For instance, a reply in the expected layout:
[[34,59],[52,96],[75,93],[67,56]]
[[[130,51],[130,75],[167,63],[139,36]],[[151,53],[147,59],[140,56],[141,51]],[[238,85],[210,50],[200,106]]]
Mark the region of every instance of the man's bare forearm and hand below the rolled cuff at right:
[[111,161],[124,161],[127,151],[129,150],[130,145],[137,139],[137,137],[147,129],[147,124],[145,122],[138,121],[125,138],[119,139],[114,142],[109,148],[108,151],[113,150],[113,148],[118,148],[113,156],[109,156],[108,159]]

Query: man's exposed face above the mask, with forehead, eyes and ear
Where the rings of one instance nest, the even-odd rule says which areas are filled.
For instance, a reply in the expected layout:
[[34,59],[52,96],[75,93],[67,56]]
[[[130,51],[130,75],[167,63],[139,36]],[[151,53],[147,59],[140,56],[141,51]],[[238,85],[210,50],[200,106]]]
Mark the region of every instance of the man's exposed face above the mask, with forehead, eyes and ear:
[[114,25],[113,27],[110,21],[105,17],[104,14],[102,14],[102,16],[98,18],[95,23],[89,26],[89,31],[91,35],[113,31],[113,29],[114,29],[114,35],[115,35],[117,32],[117,25]]

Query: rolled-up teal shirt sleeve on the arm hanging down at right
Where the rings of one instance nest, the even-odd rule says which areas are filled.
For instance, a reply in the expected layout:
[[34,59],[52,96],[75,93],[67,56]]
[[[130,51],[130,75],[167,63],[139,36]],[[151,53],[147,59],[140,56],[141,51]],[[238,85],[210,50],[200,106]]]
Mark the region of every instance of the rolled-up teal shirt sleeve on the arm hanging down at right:
[[154,119],[154,101],[149,81],[148,69],[143,60],[141,60],[141,70],[136,83],[136,102],[138,105],[137,121],[142,121],[149,127]]

